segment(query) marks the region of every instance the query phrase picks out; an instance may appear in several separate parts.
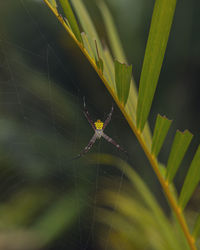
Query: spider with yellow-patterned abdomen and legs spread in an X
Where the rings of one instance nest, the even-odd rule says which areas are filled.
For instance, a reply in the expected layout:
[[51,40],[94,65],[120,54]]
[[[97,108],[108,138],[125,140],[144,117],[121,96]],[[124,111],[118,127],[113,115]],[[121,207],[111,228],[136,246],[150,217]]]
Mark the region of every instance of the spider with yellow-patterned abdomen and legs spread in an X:
[[108,135],[106,135],[104,133],[104,129],[107,127],[107,125],[110,122],[111,117],[112,117],[112,113],[113,113],[113,110],[114,110],[113,105],[112,105],[111,111],[108,114],[105,122],[102,122],[99,119],[96,122],[92,121],[92,119],[90,118],[89,112],[88,112],[88,110],[86,108],[85,98],[83,98],[83,106],[84,106],[83,113],[84,113],[85,117],[87,118],[88,122],[90,123],[91,127],[93,128],[94,135],[91,138],[91,140],[89,141],[88,145],[81,151],[81,153],[76,158],[79,158],[79,157],[83,156],[84,154],[86,154],[91,149],[91,147],[93,146],[95,141],[97,139],[100,139],[101,137],[103,137],[106,141],[112,143],[119,150],[121,150],[122,152],[127,154],[127,152],[118,143],[116,143],[112,138],[110,138]]

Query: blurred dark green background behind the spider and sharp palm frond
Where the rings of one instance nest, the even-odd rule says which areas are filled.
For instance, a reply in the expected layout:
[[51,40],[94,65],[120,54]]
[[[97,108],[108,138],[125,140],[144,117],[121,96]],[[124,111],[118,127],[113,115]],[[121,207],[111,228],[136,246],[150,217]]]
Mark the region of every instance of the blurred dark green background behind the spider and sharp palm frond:
[[[85,0],[102,40],[107,42],[95,0]],[[153,0],[109,0],[125,53],[139,82]],[[160,154],[166,163],[177,128],[195,138],[182,173],[199,144],[200,2],[178,1],[150,114],[173,119]],[[42,1],[0,2],[0,249],[103,249],[98,243],[97,194],[120,173],[71,159],[87,145],[94,119],[105,119],[113,100],[69,35]],[[122,114],[115,106],[107,134],[129,152],[128,162],[168,211],[162,190]],[[91,152],[126,160],[101,140]],[[179,189],[183,175],[178,174]],[[116,177],[117,178],[117,177]],[[106,181],[105,181],[106,180]],[[116,188],[119,179],[116,179]],[[198,191],[189,212],[197,211]],[[188,213],[189,213],[188,212]]]

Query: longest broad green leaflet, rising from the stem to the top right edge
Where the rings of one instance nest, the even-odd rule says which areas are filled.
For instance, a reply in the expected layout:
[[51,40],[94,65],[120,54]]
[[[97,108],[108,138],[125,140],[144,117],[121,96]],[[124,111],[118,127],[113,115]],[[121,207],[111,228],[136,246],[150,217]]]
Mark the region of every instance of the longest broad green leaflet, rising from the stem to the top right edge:
[[156,90],[176,0],[156,0],[139,84],[137,127],[143,130]]

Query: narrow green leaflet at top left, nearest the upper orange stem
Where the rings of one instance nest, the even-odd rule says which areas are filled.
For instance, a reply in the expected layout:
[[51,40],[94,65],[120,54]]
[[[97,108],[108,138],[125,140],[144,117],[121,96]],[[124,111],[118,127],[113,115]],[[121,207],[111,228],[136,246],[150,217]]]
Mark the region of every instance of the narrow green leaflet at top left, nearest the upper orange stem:
[[81,37],[81,33],[80,33],[80,30],[79,30],[79,27],[78,27],[78,24],[77,24],[77,21],[76,21],[76,18],[74,16],[74,13],[72,11],[72,8],[69,4],[69,1],[68,0],[59,0],[60,1],[60,4],[63,8],[63,11],[65,13],[65,16],[70,24],[70,27],[75,35],[75,37],[77,38],[77,40],[83,44],[83,40],[82,40],[82,37]]

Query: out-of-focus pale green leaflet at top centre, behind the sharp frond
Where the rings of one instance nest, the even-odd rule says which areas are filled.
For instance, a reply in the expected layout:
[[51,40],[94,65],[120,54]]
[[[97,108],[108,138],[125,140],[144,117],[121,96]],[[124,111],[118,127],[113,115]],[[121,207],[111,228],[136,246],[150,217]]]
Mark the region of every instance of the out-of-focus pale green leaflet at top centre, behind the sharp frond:
[[98,1],[98,6],[101,11],[103,21],[107,30],[108,39],[111,45],[111,49],[113,52],[114,57],[121,61],[127,62],[126,56],[124,54],[120,38],[118,36],[118,32],[115,28],[115,24],[109,9],[107,8],[106,4],[103,1]]

